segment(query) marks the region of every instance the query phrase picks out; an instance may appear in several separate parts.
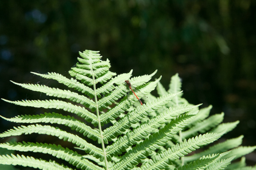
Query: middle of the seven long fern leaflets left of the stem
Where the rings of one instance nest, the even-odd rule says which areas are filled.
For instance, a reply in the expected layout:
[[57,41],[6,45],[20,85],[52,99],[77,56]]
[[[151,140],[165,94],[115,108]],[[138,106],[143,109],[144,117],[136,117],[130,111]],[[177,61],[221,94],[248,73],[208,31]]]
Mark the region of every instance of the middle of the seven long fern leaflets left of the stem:
[[90,139],[100,141],[100,134],[99,131],[96,129],[92,129],[90,126],[85,125],[83,122],[75,119],[71,116],[63,116],[62,114],[58,113],[44,113],[40,115],[20,115],[15,116],[14,118],[5,118],[0,116],[3,119],[6,119],[10,122],[16,123],[57,123],[62,124],[68,127],[71,127],[72,130],[76,130],[79,133],[82,133],[84,136],[87,136]]

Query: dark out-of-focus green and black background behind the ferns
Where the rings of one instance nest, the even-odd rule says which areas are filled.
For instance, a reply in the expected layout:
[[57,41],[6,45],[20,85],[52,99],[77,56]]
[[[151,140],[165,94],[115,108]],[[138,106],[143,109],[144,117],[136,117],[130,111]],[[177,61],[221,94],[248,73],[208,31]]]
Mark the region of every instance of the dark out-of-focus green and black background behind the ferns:
[[[255,0],[0,0],[0,97],[43,99],[9,80],[57,85],[30,71],[68,76],[78,51],[95,50],[117,74],[157,69],[166,89],[178,73],[190,103],[240,120],[227,138],[256,145],[255,11]],[[0,101],[6,117],[36,112]],[[0,119],[0,132],[13,125]]]

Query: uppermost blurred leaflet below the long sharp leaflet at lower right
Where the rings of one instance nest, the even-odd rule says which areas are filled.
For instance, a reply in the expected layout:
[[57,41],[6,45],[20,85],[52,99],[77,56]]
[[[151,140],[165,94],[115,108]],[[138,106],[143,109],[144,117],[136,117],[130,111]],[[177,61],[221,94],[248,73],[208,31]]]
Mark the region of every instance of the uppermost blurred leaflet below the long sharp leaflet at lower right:
[[243,137],[244,136],[239,136],[238,138],[228,139],[225,142],[218,143],[218,144],[213,145],[212,147],[209,147],[209,149],[204,150],[201,153],[196,153],[192,156],[185,156],[184,161],[190,162],[190,161],[194,161],[204,155],[208,155],[208,154],[212,154],[212,153],[226,152],[227,150],[238,147],[242,143]]

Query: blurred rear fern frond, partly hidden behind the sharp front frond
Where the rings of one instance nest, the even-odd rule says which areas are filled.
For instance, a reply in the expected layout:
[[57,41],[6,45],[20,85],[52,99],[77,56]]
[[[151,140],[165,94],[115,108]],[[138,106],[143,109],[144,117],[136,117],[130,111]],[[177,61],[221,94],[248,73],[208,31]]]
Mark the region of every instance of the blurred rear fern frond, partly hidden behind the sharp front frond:
[[[160,96],[168,94],[168,93],[176,93],[181,89],[181,81],[178,74],[172,77],[169,90],[166,91],[163,86],[158,82],[157,91]],[[175,98],[169,102],[167,105],[171,108],[177,105],[190,105],[186,99],[182,98],[182,93],[175,96]],[[210,110],[212,106],[210,105],[207,108],[203,108],[198,110],[198,113],[195,115],[195,118],[189,122],[183,130],[181,130],[178,134],[175,134],[174,138],[172,138],[173,143],[180,143],[183,140],[190,139],[193,136],[196,136],[201,133],[221,133],[225,129],[225,133],[230,132],[233,130],[239,121],[230,122],[230,123],[222,123],[224,119],[224,113],[221,114],[214,114],[209,116]],[[197,110],[198,108],[195,108]],[[195,111],[194,110],[194,111]],[[191,112],[191,111],[190,111]],[[186,114],[190,114],[189,112]],[[243,147],[239,146],[242,143],[243,136],[239,136],[233,139],[227,139],[224,142],[216,143],[209,148],[204,148],[204,150],[200,153],[193,154],[191,156],[184,156],[179,161],[175,163],[178,165],[179,170],[187,170],[190,166],[190,169],[199,168],[200,162],[203,161],[211,161],[212,156],[218,156],[218,159],[215,161],[211,161],[212,163],[202,164],[201,169],[227,169],[229,170],[231,167],[236,167],[237,170],[241,168],[245,168],[245,164],[240,165],[239,167],[236,166],[237,163],[231,163],[233,159],[239,159],[241,156],[246,155],[247,153],[253,152],[256,149],[254,147]],[[221,156],[221,157],[220,157]],[[220,160],[221,159],[221,160]],[[199,164],[198,164],[199,163]],[[214,164],[213,164],[214,163]],[[231,163],[231,164],[230,164]],[[205,166],[207,165],[207,166]],[[227,166],[228,165],[228,166]],[[193,168],[192,168],[193,167]],[[199,168],[199,169],[200,169]],[[246,167],[252,168],[253,170],[256,167]],[[233,169],[233,168],[231,168]],[[234,168],[235,169],[235,168]]]

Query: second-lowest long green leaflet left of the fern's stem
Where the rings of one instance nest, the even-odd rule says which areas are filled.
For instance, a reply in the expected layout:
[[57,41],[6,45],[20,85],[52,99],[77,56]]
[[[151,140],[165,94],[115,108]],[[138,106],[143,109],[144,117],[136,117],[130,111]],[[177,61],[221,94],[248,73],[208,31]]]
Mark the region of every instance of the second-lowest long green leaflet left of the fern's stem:
[[68,148],[61,147],[61,145],[56,146],[55,144],[42,144],[42,143],[32,143],[32,142],[11,142],[0,144],[0,147],[7,148],[9,150],[18,150],[18,151],[32,151],[39,153],[47,153],[56,158],[63,159],[70,164],[73,164],[77,168],[81,169],[94,169],[99,170],[102,169],[99,166],[96,166],[92,162],[84,159],[81,155],[73,150],[69,150]]

